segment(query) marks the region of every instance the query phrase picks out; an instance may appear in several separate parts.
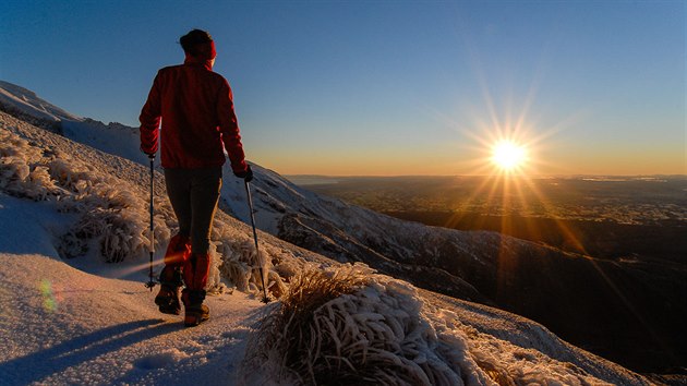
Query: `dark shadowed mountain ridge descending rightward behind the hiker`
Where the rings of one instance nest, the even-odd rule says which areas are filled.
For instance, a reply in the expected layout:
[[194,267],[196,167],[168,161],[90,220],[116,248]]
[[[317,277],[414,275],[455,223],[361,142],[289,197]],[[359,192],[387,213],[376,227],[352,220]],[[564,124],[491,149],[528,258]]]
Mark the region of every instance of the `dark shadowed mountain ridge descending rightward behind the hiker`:
[[[65,126],[67,137],[145,165],[136,129],[109,128],[84,119],[73,122]],[[339,262],[360,261],[432,291],[532,317],[568,340],[578,345],[587,341],[596,352],[624,363],[651,361],[656,346],[663,345],[651,333],[665,337],[677,328],[664,324],[668,313],[677,310],[687,314],[679,305],[663,305],[668,299],[653,288],[655,273],[650,268],[638,272],[627,264],[600,262],[495,232],[462,232],[401,221],[320,196],[257,165],[253,168],[254,203],[262,230]],[[220,207],[248,222],[243,183],[231,177],[228,166],[224,172]],[[667,281],[684,290],[680,277],[667,277]],[[647,290],[632,290],[637,284]],[[618,288],[628,294],[617,298],[614,291]],[[637,319],[624,304],[628,299],[639,304],[642,315],[652,313],[651,317]],[[647,331],[646,321],[652,326],[661,322],[661,329]],[[671,352],[677,358],[685,355],[684,340],[683,335],[672,345]],[[640,347],[641,352],[627,352],[629,348],[624,347],[620,350],[629,357],[614,358],[611,346],[618,341]],[[655,369],[659,364],[651,365]]]

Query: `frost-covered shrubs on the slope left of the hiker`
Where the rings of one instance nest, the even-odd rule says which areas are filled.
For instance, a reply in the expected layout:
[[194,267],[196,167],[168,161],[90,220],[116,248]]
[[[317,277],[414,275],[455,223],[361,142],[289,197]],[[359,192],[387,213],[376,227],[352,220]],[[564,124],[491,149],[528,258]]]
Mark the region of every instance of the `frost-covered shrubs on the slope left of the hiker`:
[[[56,208],[77,214],[60,236],[65,257],[86,253],[96,240],[106,262],[143,255],[149,243],[148,203],[141,189],[98,170],[64,152],[51,152],[0,131],[0,189],[19,197],[49,200]],[[158,203],[159,204],[159,203]],[[170,212],[167,204],[158,213]],[[164,218],[155,219],[157,248],[170,237]]]

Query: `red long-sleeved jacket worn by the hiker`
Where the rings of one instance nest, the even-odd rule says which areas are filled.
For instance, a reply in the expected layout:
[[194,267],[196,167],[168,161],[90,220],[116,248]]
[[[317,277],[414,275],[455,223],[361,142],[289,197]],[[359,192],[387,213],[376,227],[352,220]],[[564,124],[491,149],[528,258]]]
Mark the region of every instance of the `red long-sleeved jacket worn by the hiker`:
[[160,152],[164,168],[207,168],[225,164],[231,169],[248,166],[229,83],[212,71],[209,61],[186,57],[183,64],[161,69],[141,110],[141,149]]

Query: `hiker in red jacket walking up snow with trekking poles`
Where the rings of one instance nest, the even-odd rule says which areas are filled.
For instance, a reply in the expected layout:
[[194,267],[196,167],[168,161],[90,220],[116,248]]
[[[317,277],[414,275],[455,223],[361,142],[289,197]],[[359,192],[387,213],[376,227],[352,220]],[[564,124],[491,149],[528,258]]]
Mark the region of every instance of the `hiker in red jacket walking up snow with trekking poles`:
[[154,158],[160,137],[167,194],[179,221],[179,233],[167,246],[155,304],[162,313],[179,315],[185,284],[181,292],[184,325],[197,326],[209,318],[203,301],[224,149],[234,176],[248,182],[253,172],[244,159],[229,83],[213,72],[216,51],[212,36],[193,29],[179,43],[185,53],[183,64],[158,71],[141,110],[141,149]]

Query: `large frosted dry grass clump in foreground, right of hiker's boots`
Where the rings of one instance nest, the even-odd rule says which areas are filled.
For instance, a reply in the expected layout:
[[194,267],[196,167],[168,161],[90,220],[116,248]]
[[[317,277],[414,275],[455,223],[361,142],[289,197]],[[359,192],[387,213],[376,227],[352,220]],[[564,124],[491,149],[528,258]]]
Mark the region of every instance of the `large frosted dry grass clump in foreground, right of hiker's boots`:
[[268,312],[246,348],[249,385],[494,384],[412,286],[366,266],[304,272]]

